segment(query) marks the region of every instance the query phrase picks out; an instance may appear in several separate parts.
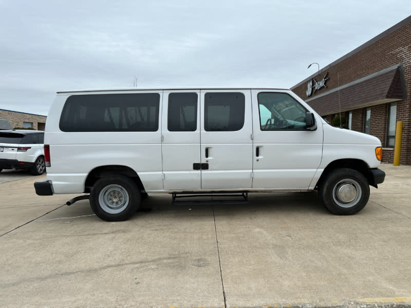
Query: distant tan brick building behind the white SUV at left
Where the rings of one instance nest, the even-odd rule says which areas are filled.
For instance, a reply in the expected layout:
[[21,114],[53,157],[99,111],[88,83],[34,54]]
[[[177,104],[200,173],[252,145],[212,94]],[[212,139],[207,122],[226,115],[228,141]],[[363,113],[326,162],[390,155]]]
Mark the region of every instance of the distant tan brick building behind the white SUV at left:
[[0,109],[0,119],[9,121],[13,128],[24,127],[44,130],[47,117],[40,114]]

